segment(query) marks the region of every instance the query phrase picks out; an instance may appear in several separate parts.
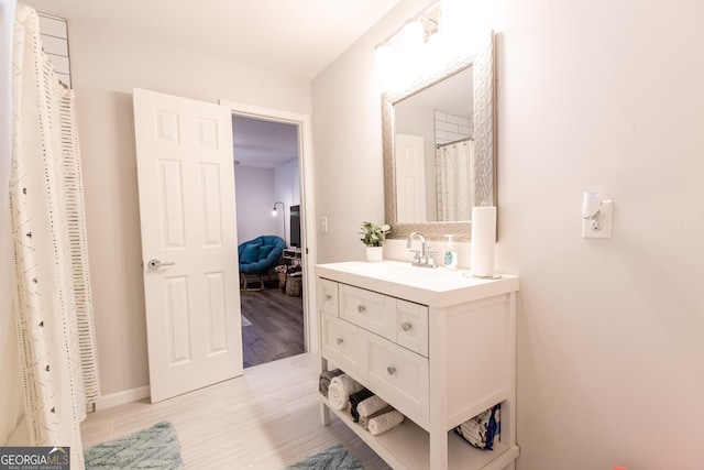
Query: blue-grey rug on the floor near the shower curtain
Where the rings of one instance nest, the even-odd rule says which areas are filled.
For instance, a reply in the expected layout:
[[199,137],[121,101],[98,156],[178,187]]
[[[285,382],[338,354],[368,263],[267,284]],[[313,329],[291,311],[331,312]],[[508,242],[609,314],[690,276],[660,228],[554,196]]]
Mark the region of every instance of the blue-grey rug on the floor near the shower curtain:
[[84,452],[86,470],[183,470],[180,444],[170,423],[157,423],[130,436],[98,444]]

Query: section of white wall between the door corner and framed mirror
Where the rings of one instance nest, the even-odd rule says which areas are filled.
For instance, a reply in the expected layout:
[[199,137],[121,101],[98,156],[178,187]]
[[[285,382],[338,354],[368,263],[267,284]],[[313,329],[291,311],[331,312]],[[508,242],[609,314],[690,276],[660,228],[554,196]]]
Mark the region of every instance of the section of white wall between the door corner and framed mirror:
[[374,46],[427,7],[407,0],[332,63],[312,84],[318,262],[364,260],[362,221],[384,220],[381,98]]

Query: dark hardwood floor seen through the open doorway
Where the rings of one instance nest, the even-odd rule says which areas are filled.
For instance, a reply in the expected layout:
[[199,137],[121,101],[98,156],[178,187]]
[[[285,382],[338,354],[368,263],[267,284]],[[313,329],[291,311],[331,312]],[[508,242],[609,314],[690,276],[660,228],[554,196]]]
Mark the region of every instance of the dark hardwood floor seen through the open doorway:
[[277,287],[240,291],[244,367],[263,364],[305,352],[302,298]]

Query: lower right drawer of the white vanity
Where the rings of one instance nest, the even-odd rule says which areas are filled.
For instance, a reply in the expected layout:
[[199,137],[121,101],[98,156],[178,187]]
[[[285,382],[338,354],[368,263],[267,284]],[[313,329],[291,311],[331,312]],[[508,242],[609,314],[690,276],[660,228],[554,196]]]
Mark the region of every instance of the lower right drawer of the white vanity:
[[369,335],[369,387],[413,420],[428,423],[428,358]]

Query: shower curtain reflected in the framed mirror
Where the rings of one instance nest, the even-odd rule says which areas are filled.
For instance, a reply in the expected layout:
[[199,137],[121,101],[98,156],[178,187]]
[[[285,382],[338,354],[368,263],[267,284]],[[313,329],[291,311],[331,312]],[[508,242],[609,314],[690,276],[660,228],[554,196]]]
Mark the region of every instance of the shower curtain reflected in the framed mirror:
[[442,145],[437,150],[439,164],[439,221],[472,219],[474,207],[474,141]]

